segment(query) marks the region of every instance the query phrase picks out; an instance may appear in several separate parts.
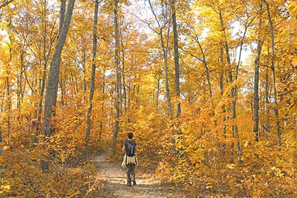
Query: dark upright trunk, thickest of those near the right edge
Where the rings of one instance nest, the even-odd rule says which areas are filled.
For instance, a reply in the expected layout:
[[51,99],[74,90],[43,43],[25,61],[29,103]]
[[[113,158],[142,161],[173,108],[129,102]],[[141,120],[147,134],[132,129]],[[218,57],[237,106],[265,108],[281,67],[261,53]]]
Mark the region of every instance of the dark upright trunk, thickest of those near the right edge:
[[[262,4],[260,4],[260,11],[262,10]],[[259,29],[261,29],[262,25],[262,19],[260,16],[259,19]],[[259,61],[260,61],[260,55],[261,55],[261,49],[262,49],[263,41],[260,40],[258,36],[258,42],[257,42],[257,52],[255,57],[255,71],[254,71],[254,89],[253,89],[253,132],[255,134],[255,141],[259,141]]]

